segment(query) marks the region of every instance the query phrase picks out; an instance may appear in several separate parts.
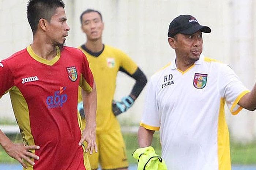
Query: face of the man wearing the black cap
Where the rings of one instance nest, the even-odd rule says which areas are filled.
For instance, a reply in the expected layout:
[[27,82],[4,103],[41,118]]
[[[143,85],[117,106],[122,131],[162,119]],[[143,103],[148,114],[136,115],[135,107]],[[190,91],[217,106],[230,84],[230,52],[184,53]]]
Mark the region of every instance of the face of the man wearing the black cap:
[[194,34],[176,34],[174,38],[168,38],[170,46],[175,50],[176,56],[184,60],[195,62],[203,50],[202,32]]

